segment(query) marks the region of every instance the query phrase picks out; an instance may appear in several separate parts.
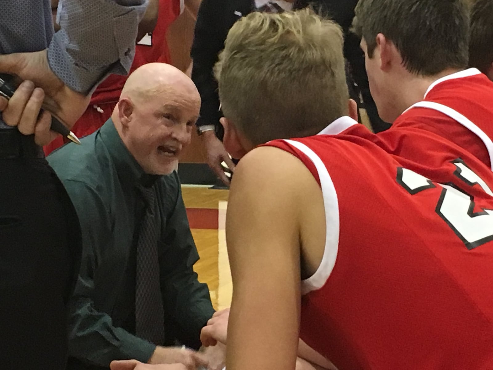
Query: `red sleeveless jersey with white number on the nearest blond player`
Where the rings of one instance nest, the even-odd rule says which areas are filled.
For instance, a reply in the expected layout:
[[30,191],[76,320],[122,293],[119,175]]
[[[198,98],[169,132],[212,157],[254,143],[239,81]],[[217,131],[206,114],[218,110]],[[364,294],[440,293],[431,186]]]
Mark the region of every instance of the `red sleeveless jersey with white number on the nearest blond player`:
[[302,282],[301,338],[339,370],[493,369],[493,172],[432,133],[433,151],[415,148],[429,168],[368,135],[342,117],[267,144],[297,156],[323,193],[326,245]]

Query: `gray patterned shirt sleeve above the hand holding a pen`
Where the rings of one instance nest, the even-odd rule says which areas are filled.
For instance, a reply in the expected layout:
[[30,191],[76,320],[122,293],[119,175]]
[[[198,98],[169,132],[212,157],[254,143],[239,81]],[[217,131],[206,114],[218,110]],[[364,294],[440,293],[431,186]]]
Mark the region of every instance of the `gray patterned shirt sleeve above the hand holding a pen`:
[[147,0],[63,0],[61,30],[48,48],[53,72],[84,94],[110,72],[127,74],[146,5]]

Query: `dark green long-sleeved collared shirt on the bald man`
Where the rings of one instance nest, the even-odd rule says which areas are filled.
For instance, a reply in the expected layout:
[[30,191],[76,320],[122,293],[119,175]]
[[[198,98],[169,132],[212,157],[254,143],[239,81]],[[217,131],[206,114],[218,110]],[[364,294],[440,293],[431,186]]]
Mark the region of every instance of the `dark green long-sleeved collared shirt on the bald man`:
[[82,145],[48,158],[67,188],[82,229],[82,263],[70,309],[68,369],[98,369],[118,359],[147,362],[155,345],[135,333],[136,246],[144,202],[138,185],[156,187],[158,241],[166,343],[200,346],[200,330],[214,312],[207,285],[197,280],[199,259],[181,187],[174,172],[146,175],[111,119]]

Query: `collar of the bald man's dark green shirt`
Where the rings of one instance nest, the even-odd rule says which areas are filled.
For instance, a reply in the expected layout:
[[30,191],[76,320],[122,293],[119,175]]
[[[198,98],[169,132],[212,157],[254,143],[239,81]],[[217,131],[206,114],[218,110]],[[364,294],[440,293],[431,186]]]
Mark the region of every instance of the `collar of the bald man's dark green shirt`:
[[125,144],[123,144],[111,118],[101,127],[99,134],[122,184],[128,184],[129,186],[150,186],[159,177],[148,175],[144,172],[141,165],[135,160]]

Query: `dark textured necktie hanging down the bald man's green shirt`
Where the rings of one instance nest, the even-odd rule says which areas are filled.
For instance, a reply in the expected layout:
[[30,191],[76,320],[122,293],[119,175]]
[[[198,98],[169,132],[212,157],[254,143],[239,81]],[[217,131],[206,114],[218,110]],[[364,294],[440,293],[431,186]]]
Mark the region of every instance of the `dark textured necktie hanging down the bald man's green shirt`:
[[135,289],[136,335],[154,344],[164,343],[164,308],[159,277],[157,240],[161,219],[153,187],[138,188],[146,208],[137,242]]

